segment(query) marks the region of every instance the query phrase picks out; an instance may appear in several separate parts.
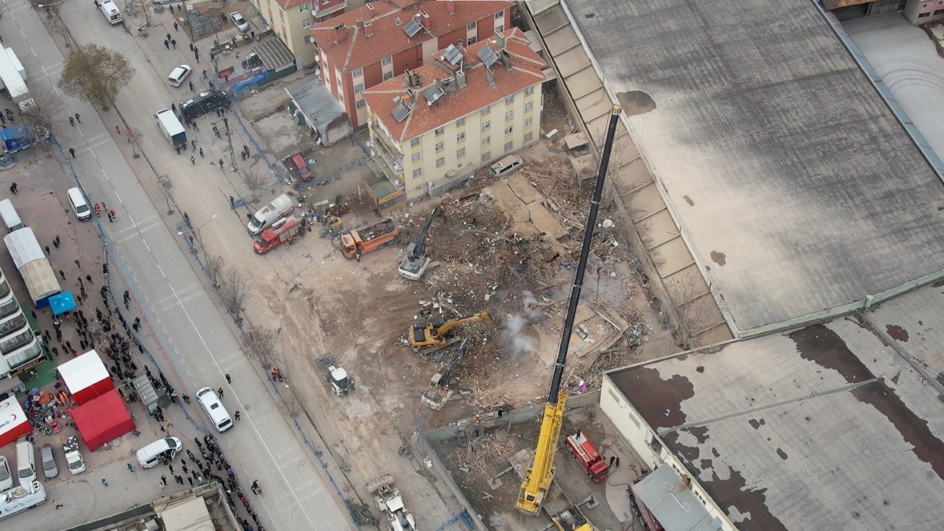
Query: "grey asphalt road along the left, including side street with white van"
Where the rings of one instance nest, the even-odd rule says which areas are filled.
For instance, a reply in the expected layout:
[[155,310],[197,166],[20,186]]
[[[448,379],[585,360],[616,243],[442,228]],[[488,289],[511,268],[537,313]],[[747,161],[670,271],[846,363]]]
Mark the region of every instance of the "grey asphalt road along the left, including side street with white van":
[[[141,41],[122,26],[108,25],[91,0],[82,5],[64,5],[63,19],[79,43],[95,41],[120,50],[138,70],[119,97],[117,113],[111,109],[96,115],[96,109],[88,104],[64,97],[53,89],[63,58],[28,4],[8,2],[2,9],[0,33],[4,44],[12,46],[24,63],[30,90],[47,98],[44,107],[53,111],[53,130],[62,147],[76,148],[74,165],[83,187],[93,202],[104,201],[118,214],[116,223],[102,224],[115,255],[112,263],[119,263],[118,270],[111,271],[112,285],[125,282],[144,307],[146,324],[160,341],[160,345],[149,347],[152,352],[163,353],[156,355],[161,369],[172,375],[172,380],[182,382],[178,389],[192,396],[194,390],[205,385],[222,387],[223,402],[229,411],[241,411],[242,421],[218,440],[245,484],[255,478],[260,480],[265,495],[254,498],[253,504],[262,522],[267,523],[268,529],[352,528],[335,490],[312,463],[311,452],[296,438],[266,390],[267,384],[257,377],[241,353],[228,316],[220,313],[201,283],[202,273],[194,272],[194,260],[182,250],[181,237],[173,226],[176,219],[164,217],[164,201],[155,204],[147,193],[150,190],[152,196],[160,197],[154,193],[158,186],[156,174],[176,174],[175,167],[189,159],[176,158],[168,146],[162,152],[166,155],[149,150],[158,155],[149,153],[146,159],[131,160],[127,157],[127,146],[122,144],[124,136],[113,132],[113,124],[125,125],[124,118],[129,124],[142,124],[145,145],[166,142],[156,126],[144,126],[151,123],[148,118],[155,110],[169,105],[170,98],[163,83],[163,66],[155,65],[153,58],[147,57],[153,48],[143,50]],[[164,19],[169,17],[165,14],[161,17]],[[152,31],[161,33],[160,27]],[[186,44],[186,38],[178,36]],[[160,103],[155,102],[165,98],[168,103],[157,107]],[[70,127],[67,117],[75,112],[81,114],[82,123]],[[186,184],[179,183],[179,189],[185,193]],[[194,224],[210,218],[200,219],[198,215],[191,212]],[[224,373],[234,375],[232,386],[227,384]],[[174,413],[176,429],[183,432],[185,448],[193,448],[193,437],[200,433],[201,425],[207,425],[207,420],[195,407],[185,411],[186,417],[182,411]],[[157,488],[160,472],[130,474],[124,471],[124,462],[122,459],[94,471],[94,475],[76,476],[68,483],[53,486],[50,499],[56,498],[63,504],[55,511],[54,520],[40,518],[39,512],[32,511],[9,522],[25,531],[44,530],[53,522],[67,525],[88,522],[160,495]],[[153,475],[153,481],[147,482],[146,474]],[[107,490],[99,484],[99,475],[109,477]],[[149,488],[141,489],[139,482]],[[52,504],[42,506],[41,510],[50,516],[54,511]]]

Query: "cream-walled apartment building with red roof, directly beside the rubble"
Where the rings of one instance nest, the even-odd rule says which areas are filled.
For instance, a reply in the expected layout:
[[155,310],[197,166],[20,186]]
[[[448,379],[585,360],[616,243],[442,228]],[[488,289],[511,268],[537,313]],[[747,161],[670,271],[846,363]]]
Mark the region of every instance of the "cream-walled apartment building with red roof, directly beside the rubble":
[[513,28],[363,91],[374,160],[406,200],[464,182],[538,141],[545,66]]

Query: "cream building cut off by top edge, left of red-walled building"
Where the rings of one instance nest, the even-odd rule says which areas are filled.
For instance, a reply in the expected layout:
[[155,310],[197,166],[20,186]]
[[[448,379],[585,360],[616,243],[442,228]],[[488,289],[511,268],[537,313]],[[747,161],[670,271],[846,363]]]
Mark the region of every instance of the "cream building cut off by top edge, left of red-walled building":
[[[295,55],[298,68],[312,66],[315,61],[312,36],[308,28],[360,8],[365,0],[252,0],[252,5],[272,27],[272,31]],[[243,13],[249,16],[247,13]]]

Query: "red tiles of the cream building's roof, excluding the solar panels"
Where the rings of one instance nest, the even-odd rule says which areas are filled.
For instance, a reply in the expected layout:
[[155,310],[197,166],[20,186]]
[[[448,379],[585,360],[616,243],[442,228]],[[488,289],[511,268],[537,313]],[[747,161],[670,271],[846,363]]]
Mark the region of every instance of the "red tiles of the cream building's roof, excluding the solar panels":
[[[402,122],[397,123],[394,119],[394,109],[399,103],[394,99],[407,93],[404,88],[405,75],[398,75],[367,91],[363,91],[363,99],[377,113],[379,121],[390,131],[391,136],[402,143],[458,120],[480,108],[504,100],[518,91],[531,87],[531,85],[543,82],[545,76],[542,70],[546,66],[545,62],[531,50],[530,41],[524,33],[515,27],[505,31],[504,35],[507,40],[505,51],[511,57],[512,69],[507,70],[500,60],[497,61],[492,67],[495,73],[494,85],[488,82],[485,75],[485,65],[476,56],[481,48],[493,41],[489,39],[476,42],[464,50],[463,70],[466,86],[445,93],[431,106],[428,105],[426,98],[423,96],[424,92],[437,79],[442,80],[451,75],[438,66],[438,60],[427,62],[413,70],[413,74],[421,76],[420,83],[422,85],[413,88],[413,91],[415,91],[413,111]],[[439,52],[435,55],[437,58],[440,57]]]

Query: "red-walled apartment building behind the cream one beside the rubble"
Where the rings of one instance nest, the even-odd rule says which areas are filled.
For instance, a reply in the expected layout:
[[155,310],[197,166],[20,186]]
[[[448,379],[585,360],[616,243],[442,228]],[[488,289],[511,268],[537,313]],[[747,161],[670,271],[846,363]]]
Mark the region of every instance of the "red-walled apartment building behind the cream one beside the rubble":
[[450,44],[468,46],[511,27],[512,2],[375,0],[308,32],[322,81],[355,128],[366,124],[362,91],[424,65]]

